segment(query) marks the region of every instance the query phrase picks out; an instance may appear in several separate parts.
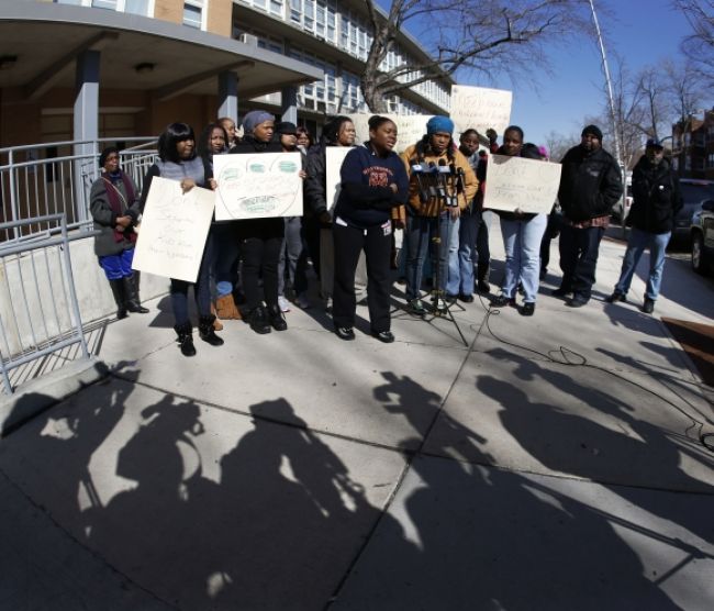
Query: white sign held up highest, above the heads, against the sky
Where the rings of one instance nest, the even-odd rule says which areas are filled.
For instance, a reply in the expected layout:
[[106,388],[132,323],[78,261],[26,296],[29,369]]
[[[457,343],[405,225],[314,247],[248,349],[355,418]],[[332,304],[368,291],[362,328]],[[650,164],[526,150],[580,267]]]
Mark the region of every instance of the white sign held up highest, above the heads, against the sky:
[[503,134],[511,124],[512,103],[511,91],[451,85],[450,118],[458,133],[473,127],[480,134],[486,134],[486,130],[493,127],[497,133]]

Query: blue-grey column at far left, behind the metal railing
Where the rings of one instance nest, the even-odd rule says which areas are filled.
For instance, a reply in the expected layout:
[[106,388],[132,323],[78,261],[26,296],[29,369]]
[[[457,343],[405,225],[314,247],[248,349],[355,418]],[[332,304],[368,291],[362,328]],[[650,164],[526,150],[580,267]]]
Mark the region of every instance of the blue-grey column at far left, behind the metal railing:
[[89,189],[97,177],[99,152],[99,51],[86,51],[77,57],[75,79],[75,127],[74,138],[91,141],[75,145],[75,155],[91,155],[75,163],[75,214],[68,222],[86,221],[89,214]]

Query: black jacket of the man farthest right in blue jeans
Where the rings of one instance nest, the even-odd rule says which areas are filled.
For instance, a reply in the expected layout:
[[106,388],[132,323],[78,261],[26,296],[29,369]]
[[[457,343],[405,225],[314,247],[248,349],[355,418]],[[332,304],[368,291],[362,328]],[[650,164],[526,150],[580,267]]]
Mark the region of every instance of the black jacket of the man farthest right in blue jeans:
[[637,162],[633,170],[633,200],[627,225],[647,233],[672,231],[683,203],[679,179],[667,159],[652,164],[643,156]]

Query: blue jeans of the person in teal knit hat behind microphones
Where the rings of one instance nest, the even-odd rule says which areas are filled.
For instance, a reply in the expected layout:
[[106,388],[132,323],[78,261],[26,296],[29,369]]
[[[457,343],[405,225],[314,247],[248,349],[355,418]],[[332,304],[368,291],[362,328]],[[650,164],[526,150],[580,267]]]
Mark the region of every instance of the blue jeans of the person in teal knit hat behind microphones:
[[[448,275],[448,244],[449,244],[449,221],[448,212],[443,212],[439,224],[439,249],[432,243],[436,235],[437,219],[434,216],[408,216],[406,218],[406,299],[417,299],[421,297],[422,271],[424,259],[427,251],[432,254],[432,259],[438,257],[438,290],[446,287]],[[435,266],[434,266],[435,267]]]

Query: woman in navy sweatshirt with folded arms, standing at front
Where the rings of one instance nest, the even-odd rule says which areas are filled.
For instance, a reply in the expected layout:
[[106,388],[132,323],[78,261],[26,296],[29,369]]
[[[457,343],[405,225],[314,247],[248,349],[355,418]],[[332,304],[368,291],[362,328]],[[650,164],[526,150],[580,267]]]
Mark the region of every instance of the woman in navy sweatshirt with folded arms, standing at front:
[[409,177],[399,155],[397,125],[386,116],[369,119],[369,142],[347,153],[339,176],[333,236],[335,281],[333,322],[341,340],[354,340],[355,273],[359,253],[367,257],[367,304],[372,335],[391,343],[389,288],[392,251],[391,210],[406,202]]

